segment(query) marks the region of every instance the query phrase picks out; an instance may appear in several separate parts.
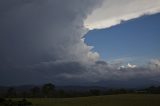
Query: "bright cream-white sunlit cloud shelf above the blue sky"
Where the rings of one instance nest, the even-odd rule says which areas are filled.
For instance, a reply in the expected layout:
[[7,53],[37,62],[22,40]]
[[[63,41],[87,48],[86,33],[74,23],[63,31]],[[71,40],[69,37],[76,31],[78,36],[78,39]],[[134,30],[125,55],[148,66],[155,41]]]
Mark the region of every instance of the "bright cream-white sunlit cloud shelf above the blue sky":
[[159,0],[104,0],[85,20],[88,29],[109,28],[122,21],[160,12]]

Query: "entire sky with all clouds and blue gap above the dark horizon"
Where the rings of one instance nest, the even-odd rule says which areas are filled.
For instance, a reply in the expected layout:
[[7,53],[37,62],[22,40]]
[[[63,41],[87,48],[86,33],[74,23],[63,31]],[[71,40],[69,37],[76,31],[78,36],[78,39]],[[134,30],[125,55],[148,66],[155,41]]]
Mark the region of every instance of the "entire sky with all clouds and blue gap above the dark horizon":
[[[159,5],[159,0],[1,0],[0,85],[160,84]],[[151,58],[140,66],[130,63],[141,63],[142,55]]]

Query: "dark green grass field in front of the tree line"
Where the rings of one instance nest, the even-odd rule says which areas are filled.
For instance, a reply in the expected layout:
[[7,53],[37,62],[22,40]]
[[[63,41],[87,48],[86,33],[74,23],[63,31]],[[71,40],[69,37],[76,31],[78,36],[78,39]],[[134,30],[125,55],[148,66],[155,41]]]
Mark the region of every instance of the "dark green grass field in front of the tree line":
[[125,94],[80,98],[27,99],[33,106],[160,106],[160,95]]

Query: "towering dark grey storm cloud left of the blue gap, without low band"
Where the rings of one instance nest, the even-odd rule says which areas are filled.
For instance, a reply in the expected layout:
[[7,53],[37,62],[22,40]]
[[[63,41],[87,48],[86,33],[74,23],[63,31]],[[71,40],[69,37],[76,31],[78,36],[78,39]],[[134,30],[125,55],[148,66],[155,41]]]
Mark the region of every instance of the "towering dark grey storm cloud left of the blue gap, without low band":
[[0,83],[44,81],[47,73],[55,77],[81,66],[77,62],[98,60],[99,54],[84,43],[83,20],[100,4],[101,0],[1,0]]

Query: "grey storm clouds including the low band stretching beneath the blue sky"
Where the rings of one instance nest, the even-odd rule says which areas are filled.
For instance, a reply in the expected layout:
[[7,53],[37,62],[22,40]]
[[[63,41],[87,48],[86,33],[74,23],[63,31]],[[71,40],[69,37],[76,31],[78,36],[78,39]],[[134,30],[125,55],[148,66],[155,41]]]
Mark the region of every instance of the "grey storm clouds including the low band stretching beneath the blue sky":
[[[144,67],[108,64],[99,60],[99,54],[84,43],[82,38],[88,31],[84,20],[101,6],[102,1],[1,0],[0,84],[84,84],[128,79],[160,81],[157,79],[160,60],[154,59]],[[108,11],[114,10],[108,8]],[[114,12],[107,16],[112,18],[113,15]]]

